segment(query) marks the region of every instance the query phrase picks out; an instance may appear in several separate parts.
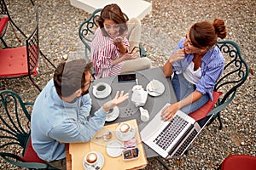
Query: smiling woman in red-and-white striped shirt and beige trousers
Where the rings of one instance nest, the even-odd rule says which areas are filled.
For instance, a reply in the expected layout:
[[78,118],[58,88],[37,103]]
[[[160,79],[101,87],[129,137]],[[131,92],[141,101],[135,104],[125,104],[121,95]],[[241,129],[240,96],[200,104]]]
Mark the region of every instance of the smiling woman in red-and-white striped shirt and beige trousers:
[[[95,77],[112,77],[126,72],[140,71],[151,67],[150,59],[137,57],[141,36],[140,20],[125,17],[117,4],[102,9],[97,28],[91,42],[91,58]],[[129,40],[127,39],[129,38]]]

